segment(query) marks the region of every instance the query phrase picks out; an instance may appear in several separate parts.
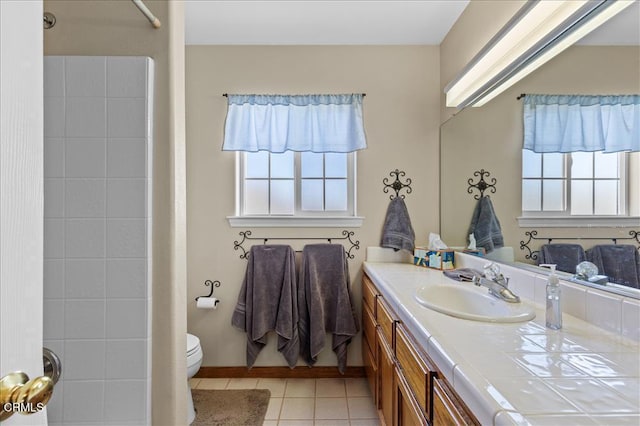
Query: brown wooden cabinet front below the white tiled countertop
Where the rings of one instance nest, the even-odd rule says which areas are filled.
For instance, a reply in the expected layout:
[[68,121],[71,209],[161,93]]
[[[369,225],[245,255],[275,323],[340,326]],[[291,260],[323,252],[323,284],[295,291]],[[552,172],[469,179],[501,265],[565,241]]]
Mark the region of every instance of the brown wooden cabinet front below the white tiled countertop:
[[479,425],[366,274],[362,297],[362,352],[382,424]]

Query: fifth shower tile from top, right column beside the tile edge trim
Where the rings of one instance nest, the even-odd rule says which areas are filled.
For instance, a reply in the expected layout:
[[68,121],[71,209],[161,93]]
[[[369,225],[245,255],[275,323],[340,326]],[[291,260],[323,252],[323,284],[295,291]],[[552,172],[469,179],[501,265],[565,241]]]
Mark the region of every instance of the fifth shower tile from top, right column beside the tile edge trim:
[[146,255],[145,219],[107,220],[107,257]]

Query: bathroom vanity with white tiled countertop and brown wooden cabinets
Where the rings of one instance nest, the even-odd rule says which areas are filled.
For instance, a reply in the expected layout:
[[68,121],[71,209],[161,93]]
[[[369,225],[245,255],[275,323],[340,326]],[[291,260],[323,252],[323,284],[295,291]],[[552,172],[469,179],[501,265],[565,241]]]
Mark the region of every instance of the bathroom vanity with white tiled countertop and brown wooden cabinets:
[[[386,425],[638,424],[638,342],[570,315],[487,322],[429,309],[426,286],[465,286],[406,263],[364,263],[362,352]],[[521,295],[522,296],[522,295]]]

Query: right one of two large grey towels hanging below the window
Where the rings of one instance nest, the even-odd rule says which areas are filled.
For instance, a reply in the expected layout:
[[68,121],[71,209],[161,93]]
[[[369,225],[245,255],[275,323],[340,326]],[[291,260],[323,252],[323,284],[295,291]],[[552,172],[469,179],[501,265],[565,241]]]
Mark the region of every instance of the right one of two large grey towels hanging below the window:
[[347,346],[358,333],[349,286],[349,265],[340,244],[311,244],[302,251],[298,281],[300,354],[313,366],[332,333],[338,371],[347,366]]

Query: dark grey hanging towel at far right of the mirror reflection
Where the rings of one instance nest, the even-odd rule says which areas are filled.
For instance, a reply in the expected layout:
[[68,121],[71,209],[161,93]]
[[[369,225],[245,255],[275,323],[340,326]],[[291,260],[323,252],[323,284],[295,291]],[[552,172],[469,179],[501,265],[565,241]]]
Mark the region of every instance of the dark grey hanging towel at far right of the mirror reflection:
[[640,288],[640,253],[631,244],[603,244],[587,250],[587,260],[609,281]]

